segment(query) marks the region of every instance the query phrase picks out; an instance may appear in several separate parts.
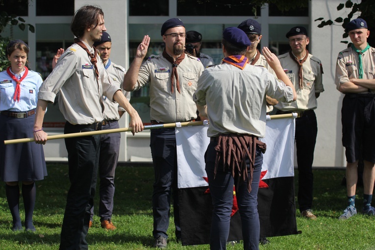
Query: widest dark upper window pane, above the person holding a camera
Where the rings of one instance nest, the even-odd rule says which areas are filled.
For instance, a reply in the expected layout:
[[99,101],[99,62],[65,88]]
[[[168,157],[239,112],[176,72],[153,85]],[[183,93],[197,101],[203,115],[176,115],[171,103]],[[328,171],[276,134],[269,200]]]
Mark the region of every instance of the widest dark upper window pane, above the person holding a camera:
[[228,0],[178,0],[177,16],[260,16],[260,7],[253,13],[250,1],[230,4]]

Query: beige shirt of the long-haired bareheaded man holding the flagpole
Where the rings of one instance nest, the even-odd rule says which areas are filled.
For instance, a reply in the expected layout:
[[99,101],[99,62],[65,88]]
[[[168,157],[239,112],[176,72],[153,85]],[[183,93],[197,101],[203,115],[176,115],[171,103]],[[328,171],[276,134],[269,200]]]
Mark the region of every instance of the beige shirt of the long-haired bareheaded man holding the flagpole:
[[[85,44],[94,53],[94,49]],[[73,44],[59,58],[56,67],[39,89],[38,99],[54,102],[59,93],[59,108],[69,123],[93,124],[103,120],[100,99],[113,100],[120,85],[113,83],[96,53],[99,85],[95,68],[86,51]]]

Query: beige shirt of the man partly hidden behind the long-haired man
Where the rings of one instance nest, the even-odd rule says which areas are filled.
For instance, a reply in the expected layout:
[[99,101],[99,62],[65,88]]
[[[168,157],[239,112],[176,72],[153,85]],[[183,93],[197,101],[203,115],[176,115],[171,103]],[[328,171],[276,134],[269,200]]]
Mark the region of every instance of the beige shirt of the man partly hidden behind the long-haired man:
[[[109,62],[110,60],[107,61],[107,64]],[[106,71],[109,77],[112,79],[112,81],[116,82],[116,84],[119,84],[120,88],[123,89],[124,76],[126,73],[125,69],[120,65],[110,62]],[[123,94],[127,100],[130,100],[130,92],[123,90]],[[125,112],[125,109],[120,107],[118,103],[108,100],[105,96],[102,96],[102,100],[104,102],[105,107],[103,112],[104,120],[119,120],[119,111]]]

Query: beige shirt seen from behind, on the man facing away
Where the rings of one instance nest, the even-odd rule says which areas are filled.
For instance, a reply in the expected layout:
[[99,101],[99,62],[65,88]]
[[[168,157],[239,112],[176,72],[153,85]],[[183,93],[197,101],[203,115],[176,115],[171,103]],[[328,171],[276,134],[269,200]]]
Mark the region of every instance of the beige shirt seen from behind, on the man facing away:
[[244,70],[224,63],[207,68],[198,80],[195,102],[207,105],[207,135],[266,132],[266,95],[291,102],[293,90],[264,67],[247,64]]

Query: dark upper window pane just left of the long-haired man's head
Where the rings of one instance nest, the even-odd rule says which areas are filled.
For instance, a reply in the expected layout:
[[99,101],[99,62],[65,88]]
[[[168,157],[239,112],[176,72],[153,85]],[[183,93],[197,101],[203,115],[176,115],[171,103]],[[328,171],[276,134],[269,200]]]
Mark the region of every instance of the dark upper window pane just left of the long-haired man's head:
[[73,16],[74,0],[34,0],[37,16]]

